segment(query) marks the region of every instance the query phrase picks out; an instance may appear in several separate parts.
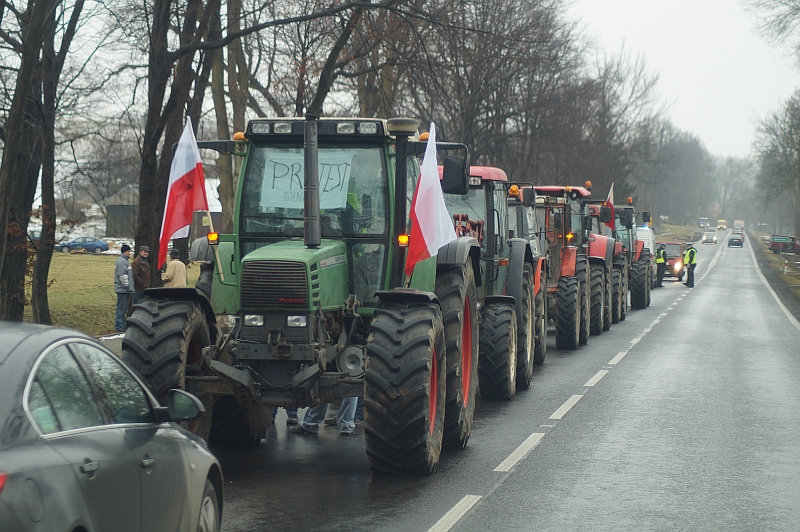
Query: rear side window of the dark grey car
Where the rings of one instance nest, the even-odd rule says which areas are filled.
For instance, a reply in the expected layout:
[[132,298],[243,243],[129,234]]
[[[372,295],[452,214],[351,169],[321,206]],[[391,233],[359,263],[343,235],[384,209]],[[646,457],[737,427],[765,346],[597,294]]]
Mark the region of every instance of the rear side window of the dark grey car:
[[[105,423],[86,375],[66,346],[57,347],[45,356],[35,380],[50,400],[61,430],[95,427]],[[31,406],[29,398],[28,408],[33,411]],[[36,406],[41,407],[40,404]],[[47,424],[39,426],[47,427]]]

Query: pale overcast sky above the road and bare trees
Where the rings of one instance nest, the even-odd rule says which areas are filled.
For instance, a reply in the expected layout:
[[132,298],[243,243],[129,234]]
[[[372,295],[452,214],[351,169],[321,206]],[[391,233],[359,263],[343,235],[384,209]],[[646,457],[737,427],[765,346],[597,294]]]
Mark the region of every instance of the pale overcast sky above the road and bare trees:
[[750,154],[760,118],[800,88],[785,49],[740,0],[572,0],[568,14],[608,53],[641,54],[678,128],[714,155]]

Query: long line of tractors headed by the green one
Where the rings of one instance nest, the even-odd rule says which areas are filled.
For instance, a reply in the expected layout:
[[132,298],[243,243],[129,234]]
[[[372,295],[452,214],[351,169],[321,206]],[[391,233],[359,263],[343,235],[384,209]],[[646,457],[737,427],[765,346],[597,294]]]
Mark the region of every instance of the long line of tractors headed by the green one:
[[[253,120],[200,148],[242,158],[231,234],[194,288],[134,306],[123,358],[164,400],[201,399],[198,435],[258,445],[274,407],[364,398],[370,467],[428,474],[464,448],[476,396],[510,400],[548,327],[578,349],[650,303],[651,249],[627,204],[582,186],[510,182],[437,142],[455,240],[405,257],[425,153],[416,120]],[[637,220],[639,217],[639,220]]]

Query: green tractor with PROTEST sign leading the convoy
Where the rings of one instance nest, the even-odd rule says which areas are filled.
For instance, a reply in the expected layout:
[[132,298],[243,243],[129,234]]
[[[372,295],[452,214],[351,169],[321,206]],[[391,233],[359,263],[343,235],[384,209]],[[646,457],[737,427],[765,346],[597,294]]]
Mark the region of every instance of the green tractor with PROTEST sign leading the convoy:
[[[201,398],[191,427],[257,445],[272,409],[363,396],[370,467],[433,471],[464,447],[475,408],[481,244],[461,236],[404,272],[411,199],[426,143],[415,120],[253,120],[234,231],[195,288],[151,289],[134,306],[123,358],[163,400]],[[442,189],[468,194],[466,147],[437,143]],[[443,154],[444,155],[444,154]],[[412,236],[413,238],[413,236]],[[210,242],[213,244],[213,242]]]

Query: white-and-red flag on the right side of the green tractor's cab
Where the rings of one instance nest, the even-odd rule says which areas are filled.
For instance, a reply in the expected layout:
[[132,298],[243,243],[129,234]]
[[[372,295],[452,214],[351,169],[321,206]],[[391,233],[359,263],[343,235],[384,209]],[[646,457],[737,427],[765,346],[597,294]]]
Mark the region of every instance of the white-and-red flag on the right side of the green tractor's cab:
[[455,240],[456,230],[447,212],[436,164],[436,126],[431,123],[422,172],[411,202],[411,234],[406,255],[406,275],[414,265],[433,257],[445,244]]

